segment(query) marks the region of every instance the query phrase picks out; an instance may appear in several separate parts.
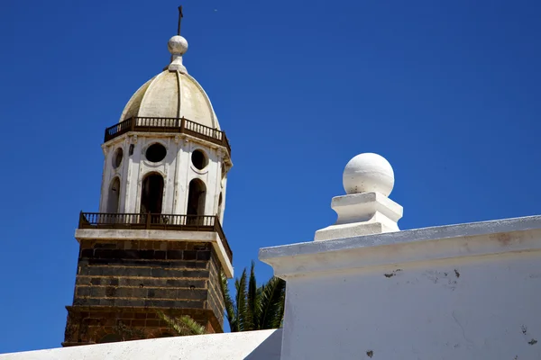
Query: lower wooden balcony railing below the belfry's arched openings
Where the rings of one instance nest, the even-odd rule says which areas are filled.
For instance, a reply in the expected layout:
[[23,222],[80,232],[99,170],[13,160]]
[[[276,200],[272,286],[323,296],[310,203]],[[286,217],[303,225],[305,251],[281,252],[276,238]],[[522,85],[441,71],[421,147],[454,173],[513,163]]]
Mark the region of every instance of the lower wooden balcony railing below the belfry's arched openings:
[[229,261],[233,262],[233,252],[224,229],[217,216],[169,215],[153,213],[105,213],[82,212],[79,215],[78,229],[152,229],[215,231],[222,240]]

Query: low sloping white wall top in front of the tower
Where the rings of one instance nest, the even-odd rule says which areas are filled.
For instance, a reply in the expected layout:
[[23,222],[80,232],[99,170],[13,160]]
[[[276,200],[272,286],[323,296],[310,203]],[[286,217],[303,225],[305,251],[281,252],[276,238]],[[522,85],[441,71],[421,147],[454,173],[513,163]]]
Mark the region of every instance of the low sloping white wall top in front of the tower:
[[153,338],[0,355],[0,360],[280,360],[281,329]]

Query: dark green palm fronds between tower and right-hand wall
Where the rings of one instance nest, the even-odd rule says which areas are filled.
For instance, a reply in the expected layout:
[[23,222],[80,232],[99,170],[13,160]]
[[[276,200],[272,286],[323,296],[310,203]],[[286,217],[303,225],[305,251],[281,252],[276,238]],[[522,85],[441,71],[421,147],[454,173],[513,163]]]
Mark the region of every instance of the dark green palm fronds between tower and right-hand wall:
[[273,276],[257,286],[252,261],[250,277],[244,268],[243,275],[234,282],[234,300],[229,294],[227,278],[222,274],[225,313],[232,332],[278,329],[284,317],[286,282]]

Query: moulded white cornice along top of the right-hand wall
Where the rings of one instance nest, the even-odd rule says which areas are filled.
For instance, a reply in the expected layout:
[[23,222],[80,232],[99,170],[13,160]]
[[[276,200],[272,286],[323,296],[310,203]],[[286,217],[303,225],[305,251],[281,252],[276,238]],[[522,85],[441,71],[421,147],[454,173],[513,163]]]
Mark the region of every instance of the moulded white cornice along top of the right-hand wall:
[[282,278],[453,257],[541,250],[541,216],[263,247],[259,258]]

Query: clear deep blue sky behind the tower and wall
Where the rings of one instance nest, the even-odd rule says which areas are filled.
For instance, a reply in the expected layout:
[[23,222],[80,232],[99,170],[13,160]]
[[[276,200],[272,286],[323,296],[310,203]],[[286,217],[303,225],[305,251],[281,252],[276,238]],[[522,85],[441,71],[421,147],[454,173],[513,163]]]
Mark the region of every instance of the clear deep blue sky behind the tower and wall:
[[[60,346],[103,131],[168,64],[177,5],[3,2],[0,353]],[[237,275],[260,247],[333,223],[344,166],[362,152],[394,167],[401,229],[541,213],[541,2],[183,5],[184,63],[233,148]]]

